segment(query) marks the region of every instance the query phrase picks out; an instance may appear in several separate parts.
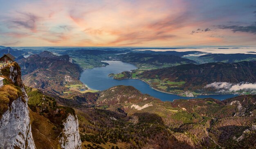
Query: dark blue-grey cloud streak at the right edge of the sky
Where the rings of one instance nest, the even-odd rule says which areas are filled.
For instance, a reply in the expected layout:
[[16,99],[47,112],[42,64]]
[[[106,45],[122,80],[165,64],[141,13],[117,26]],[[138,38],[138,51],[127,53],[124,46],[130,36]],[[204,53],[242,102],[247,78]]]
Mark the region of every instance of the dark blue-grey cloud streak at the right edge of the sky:
[[246,33],[256,33],[256,25],[252,24],[250,26],[238,26],[238,25],[232,25],[232,26],[226,26],[226,25],[219,25],[219,29],[231,29],[234,33],[235,32],[246,32]]

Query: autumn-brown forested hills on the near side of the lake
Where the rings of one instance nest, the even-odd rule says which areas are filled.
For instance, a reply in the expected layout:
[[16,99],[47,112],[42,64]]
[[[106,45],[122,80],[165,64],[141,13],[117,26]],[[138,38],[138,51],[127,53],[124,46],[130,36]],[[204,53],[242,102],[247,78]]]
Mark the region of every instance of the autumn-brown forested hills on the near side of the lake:
[[[83,107],[82,100],[93,101],[88,104],[94,108]],[[75,106],[81,140],[98,148],[113,143],[119,148],[245,149],[255,144],[254,95],[162,102],[120,85],[65,101],[82,106]]]

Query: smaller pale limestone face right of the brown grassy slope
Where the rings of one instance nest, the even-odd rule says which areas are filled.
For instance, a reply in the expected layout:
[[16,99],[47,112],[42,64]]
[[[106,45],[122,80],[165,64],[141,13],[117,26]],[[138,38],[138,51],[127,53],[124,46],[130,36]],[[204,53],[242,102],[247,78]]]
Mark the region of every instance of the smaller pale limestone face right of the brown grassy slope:
[[64,128],[59,136],[62,149],[81,149],[77,116],[69,114],[63,122]]

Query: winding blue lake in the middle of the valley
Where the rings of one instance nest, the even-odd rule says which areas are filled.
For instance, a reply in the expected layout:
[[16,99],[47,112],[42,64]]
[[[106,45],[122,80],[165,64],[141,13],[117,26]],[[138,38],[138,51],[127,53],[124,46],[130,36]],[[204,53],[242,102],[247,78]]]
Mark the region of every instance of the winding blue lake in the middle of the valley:
[[[175,99],[190,99],[188,97],[181,97],[173,94],[163,93],[152,89],[148,84],[141,80],[137,79],[124,79],[124,80],[115,80],[112,77],[108,77],[110,73],[121,73],[123,71],[130,71],[136,69],[132,64],[124,63],[121,61],[103,61],[107,62],[109,65],[106,67],[98,67],[94,69],[87,69],[81,74],[81,82],[87,85],[91,89],[103,91],[109,89],[110,87],[117,85],[130,85],[141,91],[142,93],[147,93],[150,96],[159,98],[162,101],[173,101]],[[202,95],[197,98],[215,98],[218,100],[223,100],[237,95],[228,94],[228,95]]]

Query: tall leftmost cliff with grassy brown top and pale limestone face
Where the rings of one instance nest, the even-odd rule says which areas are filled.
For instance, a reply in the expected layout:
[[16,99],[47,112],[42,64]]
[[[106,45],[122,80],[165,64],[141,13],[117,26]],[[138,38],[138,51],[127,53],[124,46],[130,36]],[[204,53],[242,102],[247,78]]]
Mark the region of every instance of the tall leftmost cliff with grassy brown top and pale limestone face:
[[27,105],[28,97],[21,81],[20,67],[13,63],[2,69],[1,75],[4,75],[2,77],[5,78],[5,85],[0,89],[0,146],[4,149],[35,149]]

